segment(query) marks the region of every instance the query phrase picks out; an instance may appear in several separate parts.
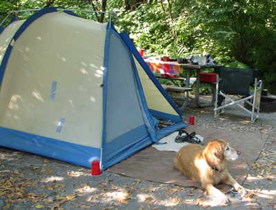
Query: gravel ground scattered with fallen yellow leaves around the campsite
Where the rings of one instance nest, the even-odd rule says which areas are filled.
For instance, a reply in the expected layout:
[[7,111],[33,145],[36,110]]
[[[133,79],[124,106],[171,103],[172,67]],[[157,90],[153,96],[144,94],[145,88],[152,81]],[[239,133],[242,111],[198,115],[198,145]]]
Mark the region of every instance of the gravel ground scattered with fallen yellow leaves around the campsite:
[[[276,113],[260,114],[254,124],[237,109],[219,118],[210,108],[186,109],[199,126],[228,132],[262,132],[266,144],[248,167],[248,195],[228,193],[230,204],[210,209],[276,209]],[[137,180],[0,147],[0,209],[206,209],[211,198],[201,189]],[[202,206],[204,204],[204,206]]]

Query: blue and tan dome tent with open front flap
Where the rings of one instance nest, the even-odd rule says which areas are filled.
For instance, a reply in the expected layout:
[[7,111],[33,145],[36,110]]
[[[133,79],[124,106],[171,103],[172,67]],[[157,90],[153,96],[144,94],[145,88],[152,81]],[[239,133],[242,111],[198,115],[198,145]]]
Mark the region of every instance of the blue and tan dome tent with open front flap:
[[39,10],[1,32],[0,64],[3,147],[104,170],[187,126],[111,22]]

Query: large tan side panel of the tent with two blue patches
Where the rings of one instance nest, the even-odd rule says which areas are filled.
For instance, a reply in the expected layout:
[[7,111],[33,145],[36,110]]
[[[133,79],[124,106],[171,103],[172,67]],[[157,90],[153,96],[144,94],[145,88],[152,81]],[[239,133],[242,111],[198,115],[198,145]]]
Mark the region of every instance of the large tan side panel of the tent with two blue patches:
[[0,126],[101,147],[105,37],[106,24],[60,12],[29,25],[6,67]]

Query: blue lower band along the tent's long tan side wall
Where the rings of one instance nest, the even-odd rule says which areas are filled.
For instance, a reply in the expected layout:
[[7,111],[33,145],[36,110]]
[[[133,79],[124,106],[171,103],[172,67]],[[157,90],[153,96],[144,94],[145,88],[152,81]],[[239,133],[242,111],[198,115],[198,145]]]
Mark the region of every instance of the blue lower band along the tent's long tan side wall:
[[101,158],[101,149],[68,143],[0,127],[0,145],[56,158],[83,167],[91,167],[92,160]]

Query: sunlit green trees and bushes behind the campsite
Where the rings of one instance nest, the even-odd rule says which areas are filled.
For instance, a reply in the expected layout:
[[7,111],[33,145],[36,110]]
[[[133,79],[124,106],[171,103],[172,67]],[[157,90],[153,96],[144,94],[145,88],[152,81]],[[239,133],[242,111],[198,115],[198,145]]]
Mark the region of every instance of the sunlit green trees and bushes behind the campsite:
[[[43,8],[113,10],[115,27],[126,30],[145,54],[172,57],[209,52],[221,65],[254,67],[266,88],[276,92],[275,0],[9,0],[0,1],[0,20],[8,10]],[[25,19],[33,12],[21,12]],[[77,12],[99,20],[95,13]],[[9,17],[3,25],[7,25]],[[108,16],[106,16],[106,20]]]

